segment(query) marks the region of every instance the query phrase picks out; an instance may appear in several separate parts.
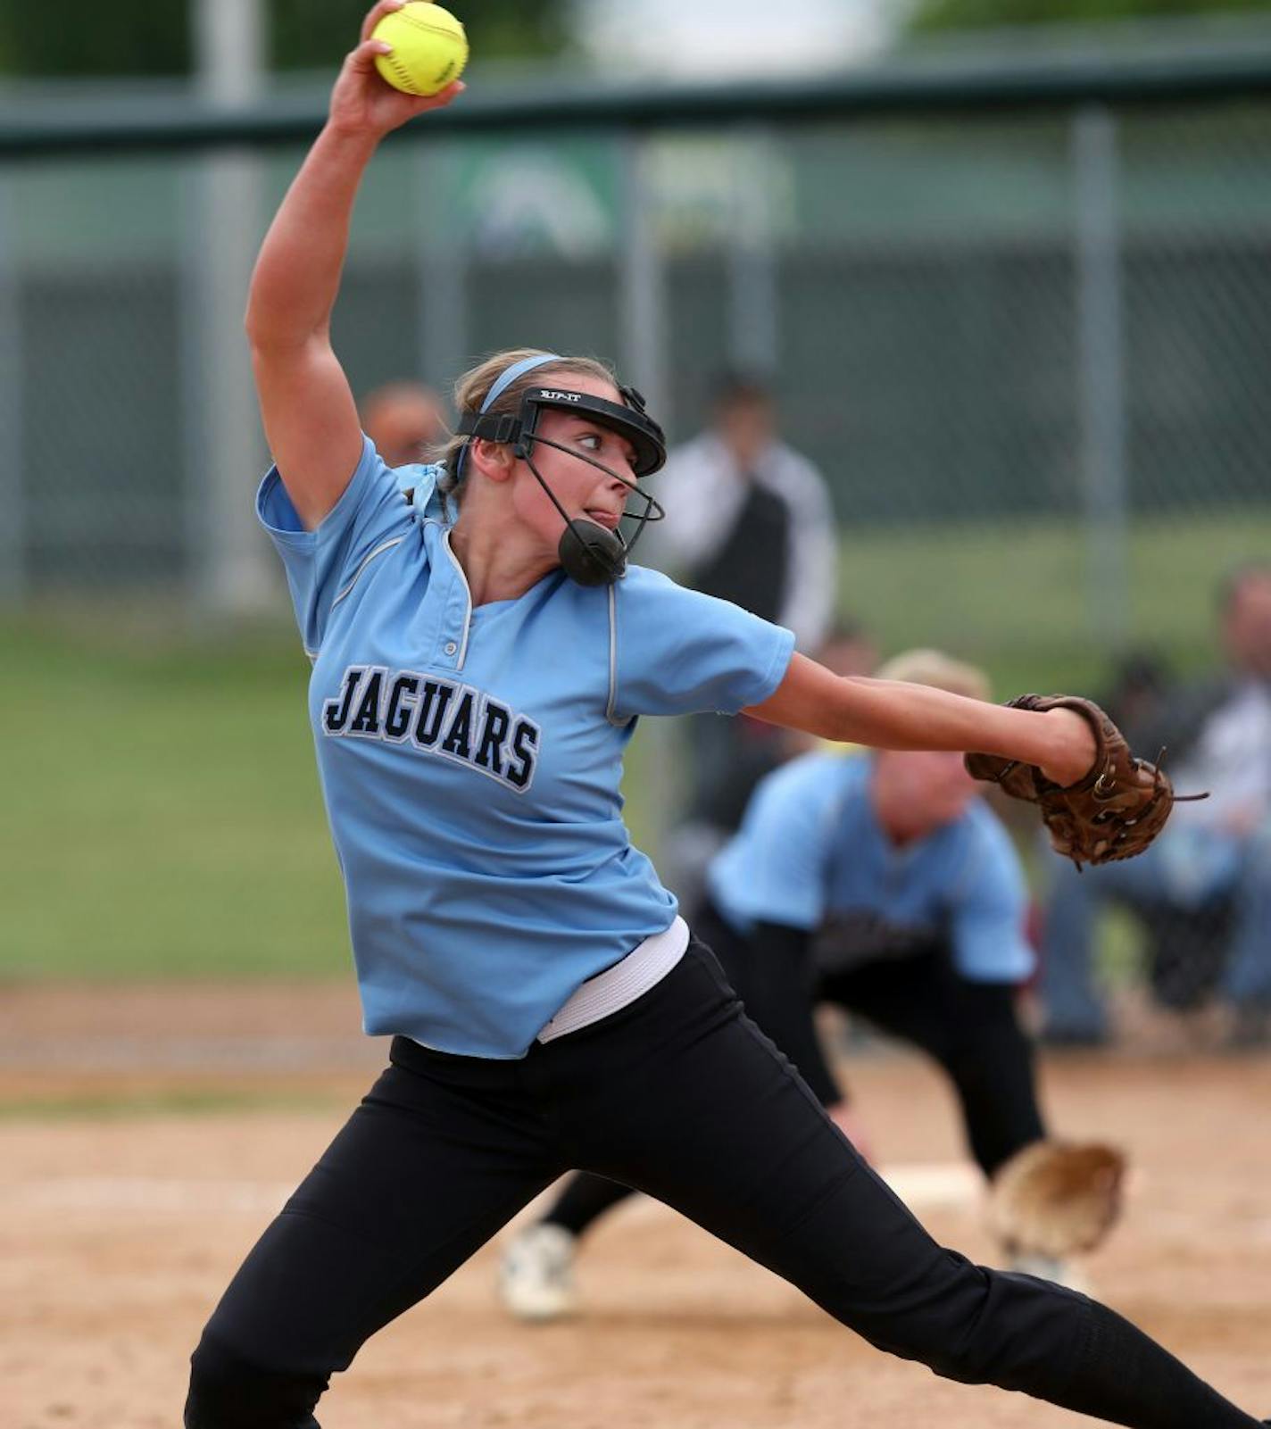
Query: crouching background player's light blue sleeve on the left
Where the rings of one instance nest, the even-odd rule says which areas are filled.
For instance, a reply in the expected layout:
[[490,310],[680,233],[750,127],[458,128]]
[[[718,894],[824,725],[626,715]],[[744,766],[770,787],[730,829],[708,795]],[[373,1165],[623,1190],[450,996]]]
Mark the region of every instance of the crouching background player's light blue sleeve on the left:
[[756,786],[741,829],[708,870],[712,899],[738,929],[821,925],[842,763],[841,755],[803,755]]

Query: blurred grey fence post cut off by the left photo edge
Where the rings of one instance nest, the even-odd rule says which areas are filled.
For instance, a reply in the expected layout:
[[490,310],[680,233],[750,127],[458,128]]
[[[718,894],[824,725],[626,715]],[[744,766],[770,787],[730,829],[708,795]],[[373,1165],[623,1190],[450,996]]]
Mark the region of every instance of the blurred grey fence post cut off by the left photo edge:
[[0,604],[27,596],[23,354],[11,174],[0,179]]

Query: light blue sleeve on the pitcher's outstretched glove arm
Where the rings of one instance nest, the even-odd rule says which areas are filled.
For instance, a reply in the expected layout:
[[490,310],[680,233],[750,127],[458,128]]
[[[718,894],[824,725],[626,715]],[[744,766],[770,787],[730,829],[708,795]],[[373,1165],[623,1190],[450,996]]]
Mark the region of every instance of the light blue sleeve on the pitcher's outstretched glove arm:
[[615,596],[613,716],[736,714],[776,690],[793,647],[782,626],[632,566]]

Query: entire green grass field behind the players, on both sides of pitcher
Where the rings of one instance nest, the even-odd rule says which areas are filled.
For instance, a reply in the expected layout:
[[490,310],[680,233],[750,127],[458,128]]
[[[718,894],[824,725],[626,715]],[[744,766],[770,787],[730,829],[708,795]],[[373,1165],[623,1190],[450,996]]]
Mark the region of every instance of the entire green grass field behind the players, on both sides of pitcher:
[[[1139,527],[1134,637],[1182,667],[1212,659],[1214,579],[1258,550],[1271,520]],[[1098,689],[1107,659],[1082,633],[1078,572],[1054,524],[874,533],[844,542],[842,606],[885,653],[925,643],[979,659],[1002,696]],[[46,614],[0,622],[0,977],[346,970],[290,627],[200,640]],[[645,846],[649,749],[638,736],[626,783]]]

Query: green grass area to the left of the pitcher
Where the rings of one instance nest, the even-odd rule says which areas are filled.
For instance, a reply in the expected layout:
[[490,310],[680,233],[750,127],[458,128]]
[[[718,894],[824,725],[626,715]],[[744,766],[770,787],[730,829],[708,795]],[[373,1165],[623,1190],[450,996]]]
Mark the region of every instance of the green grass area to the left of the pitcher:
[[6,976],[333,973],[345,913],[285,633],[0,632]]

